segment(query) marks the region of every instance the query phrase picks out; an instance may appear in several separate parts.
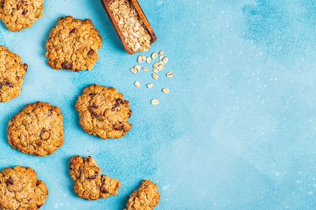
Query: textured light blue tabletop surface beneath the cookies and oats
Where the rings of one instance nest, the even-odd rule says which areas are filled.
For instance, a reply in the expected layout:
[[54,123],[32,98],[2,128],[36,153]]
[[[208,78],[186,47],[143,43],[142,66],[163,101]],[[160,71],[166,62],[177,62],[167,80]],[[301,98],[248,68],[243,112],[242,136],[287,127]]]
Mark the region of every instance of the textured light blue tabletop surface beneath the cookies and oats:
[[[143,179],[159,185],[157,210],[316,209],[315,3],[139,3],[157,35],[145,55],[164,49],[169,56],[158,81],[129,71],[139,54],[124,51],[98,0],[45,0],[43,17],[19,33],[0,24],[1,44],[29,64],[20,96],[0,104],[0,168],[36,170],[49,190],[43,210],[123,209]],[[90,72],[46,64],[48,33],[67,15],[91,19],[103,39]],[[167,72],[174,77],[163,77]],[[150,82],[154,88],[146,89]],[[74,104],[94,83],[130,101],[133,127],[126,136],[102,141],[80,127]],[[170,94],[161,93],[165,87]],[[160,104],[151,105],[152,98]],[[47,157],[12,150],[7,139],[10,118],[36,101],[64,115],[65,143]],[[119,193],[79,199],[68,169],[73,155],[92,156],[121,181]]]

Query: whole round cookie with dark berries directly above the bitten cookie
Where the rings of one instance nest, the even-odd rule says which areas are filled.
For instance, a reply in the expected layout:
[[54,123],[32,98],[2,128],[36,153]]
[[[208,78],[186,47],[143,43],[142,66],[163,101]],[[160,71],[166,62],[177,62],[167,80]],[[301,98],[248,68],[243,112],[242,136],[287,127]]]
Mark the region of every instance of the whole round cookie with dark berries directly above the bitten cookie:
[[115,88],[87,86],[78,97],[76,110],[82,128],[102,139],[122,137],[132,127],[129,102]]

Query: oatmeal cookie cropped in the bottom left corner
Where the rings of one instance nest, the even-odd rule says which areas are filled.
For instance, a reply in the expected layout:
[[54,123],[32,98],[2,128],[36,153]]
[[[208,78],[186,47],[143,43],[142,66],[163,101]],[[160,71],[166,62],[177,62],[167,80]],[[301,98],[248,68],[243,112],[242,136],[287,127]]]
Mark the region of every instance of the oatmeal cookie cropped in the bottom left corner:
[[45,203],[48,191],[31,168],[16,166],[0,172],[0,209],[37,210]]

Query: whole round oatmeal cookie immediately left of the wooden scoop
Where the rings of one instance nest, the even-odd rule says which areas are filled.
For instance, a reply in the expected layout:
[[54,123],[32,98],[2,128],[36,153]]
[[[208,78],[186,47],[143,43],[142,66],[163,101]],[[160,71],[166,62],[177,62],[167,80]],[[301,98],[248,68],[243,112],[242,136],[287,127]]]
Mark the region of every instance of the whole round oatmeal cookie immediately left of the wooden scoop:
[[101,37],[93,28],[91,20],[59,18],[46,41],[45,56],[54,69],[74,72],[91,70],[97,60],[96,50],[101,47]]

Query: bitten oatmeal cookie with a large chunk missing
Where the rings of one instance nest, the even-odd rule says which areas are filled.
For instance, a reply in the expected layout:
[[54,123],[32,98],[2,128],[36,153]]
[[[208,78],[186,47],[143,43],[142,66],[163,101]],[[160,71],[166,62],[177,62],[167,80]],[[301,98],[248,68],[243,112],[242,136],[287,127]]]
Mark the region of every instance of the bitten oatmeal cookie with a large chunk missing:
[[96,200],[116,195],[119,191],[120,181],[116,178],[100,174],[101,169],[95,161],[88,156],[82,158],[79,155],[70,159],[70,175],[74,179],[74,191],[80,198]]

